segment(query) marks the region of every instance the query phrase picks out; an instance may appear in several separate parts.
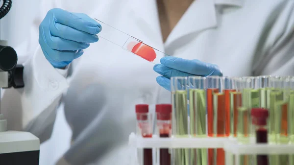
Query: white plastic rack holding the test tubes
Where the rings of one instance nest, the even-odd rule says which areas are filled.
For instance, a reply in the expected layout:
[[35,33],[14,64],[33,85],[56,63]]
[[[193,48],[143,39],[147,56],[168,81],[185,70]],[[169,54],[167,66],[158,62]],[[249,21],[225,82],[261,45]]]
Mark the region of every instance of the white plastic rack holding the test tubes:
[[[240,165],[241,155],[294,155],[294,144],[256,144],[251,138],[249,144],[238,143],[236,138],[142,138],[135,133],[129,135],[129,147],[132,150],[130,165],[140,165],[137,158],[137,149],[141,148],[223,148],[225,151],[225,165]],[[234,156],[234,162],[232,157]],[[155,163],[154,165],[159,165]]]

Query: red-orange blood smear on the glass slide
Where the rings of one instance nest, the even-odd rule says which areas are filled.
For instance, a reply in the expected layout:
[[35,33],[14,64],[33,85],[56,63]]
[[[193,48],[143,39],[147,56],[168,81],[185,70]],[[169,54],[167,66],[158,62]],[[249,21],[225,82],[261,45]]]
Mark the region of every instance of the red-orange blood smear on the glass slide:
[[127,49],[134,54],[144,58],[145,60],[152,62],[156,58],[155,50],[152,47],[147,46],[144,43],[137,43],[131,42],[128,44]]

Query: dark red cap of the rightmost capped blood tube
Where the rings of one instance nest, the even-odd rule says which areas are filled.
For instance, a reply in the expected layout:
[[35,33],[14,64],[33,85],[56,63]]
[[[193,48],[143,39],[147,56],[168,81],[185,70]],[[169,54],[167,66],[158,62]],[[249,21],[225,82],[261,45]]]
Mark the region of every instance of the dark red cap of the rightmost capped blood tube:
[[269,117],[269,110],[264,108],[251,109],[252,123],[256,125],[267,125],[267,118]]

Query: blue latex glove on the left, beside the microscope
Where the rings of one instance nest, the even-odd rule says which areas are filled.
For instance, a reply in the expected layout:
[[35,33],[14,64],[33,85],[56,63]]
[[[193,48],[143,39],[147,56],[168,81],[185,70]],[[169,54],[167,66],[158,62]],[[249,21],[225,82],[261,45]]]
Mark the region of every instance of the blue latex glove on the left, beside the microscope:
[[39,26],[39,44],[55,68],[64,68],[98,41],[101,25],[83,13],[51,9]]

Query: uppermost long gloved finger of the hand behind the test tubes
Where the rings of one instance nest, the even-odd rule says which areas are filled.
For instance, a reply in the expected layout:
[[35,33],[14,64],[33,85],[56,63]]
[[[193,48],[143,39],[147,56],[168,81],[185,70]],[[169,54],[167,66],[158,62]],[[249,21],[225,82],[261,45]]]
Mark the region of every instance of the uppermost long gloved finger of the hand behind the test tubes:
[[160,63],[171,69],[194,75],[222,75],[221,70],[216,65],[205,63],[199,60],[187,60],[183,58],[167,56],[160,59]]

